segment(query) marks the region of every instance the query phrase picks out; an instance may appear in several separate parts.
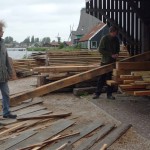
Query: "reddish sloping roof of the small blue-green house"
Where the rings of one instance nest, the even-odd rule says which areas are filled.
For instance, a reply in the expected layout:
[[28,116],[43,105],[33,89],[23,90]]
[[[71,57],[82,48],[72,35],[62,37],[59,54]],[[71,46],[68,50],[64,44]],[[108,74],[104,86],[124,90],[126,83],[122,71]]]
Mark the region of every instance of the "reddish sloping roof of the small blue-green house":
[[92,38],[95,34],[97,34],[100,30],[105,27],[105,23],[99,23],[97,26],[95,26],[89,33],[85,34],[79,42],[88,41],[90,38]]

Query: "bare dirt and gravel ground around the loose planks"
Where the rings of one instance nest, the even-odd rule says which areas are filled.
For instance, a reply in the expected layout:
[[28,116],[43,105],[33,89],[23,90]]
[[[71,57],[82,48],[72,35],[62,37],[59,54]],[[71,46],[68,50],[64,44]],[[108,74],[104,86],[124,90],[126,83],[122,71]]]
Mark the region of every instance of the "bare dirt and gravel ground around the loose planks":
[[[10,93],[18,93],[35,88],[36,78],[30,77],[10,81]],[[43,97],[45,105],[50,110],[71,111],[79,115],[80,121],[101,119],[104,122],[120,124],[121,122],[133,125],[128,133],[113,144],[109,150],[149,150],[150,141],[150,101],[148,98],[131,98],[117,94],[117,100],[108,101],[105,94],[98,100],[92,95],[76,97],[72,93],[52,93]],[[33,100],[34,100],[33,99]]]

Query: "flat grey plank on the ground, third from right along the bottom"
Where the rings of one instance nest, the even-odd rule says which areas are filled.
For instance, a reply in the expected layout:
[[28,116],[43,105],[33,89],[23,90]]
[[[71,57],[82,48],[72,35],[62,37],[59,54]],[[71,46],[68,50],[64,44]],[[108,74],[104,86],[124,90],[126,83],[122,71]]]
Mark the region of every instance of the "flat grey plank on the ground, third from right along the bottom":
[[47,147],[45,150],[57,149],[61,145],[63,145],[64,143],[68,143],[68,141],[70,142],[70,144],[74,144],[75,142],[77,142],[78,140],[80,140],[84,136],[88,135],[92,131],[96,130],[97,128],[101,127],[102,125],[103,125],[103,123],[101,121],[99,121],[99,120],[97,120],[95,122],[92,122],[91,124],[84,125],[84,127],[79,129],[79,132],[80,132],[79,136],[70,137],[70,138],[66,138],[66,139],[63,139],[61,141],[58,141],[57,143],[54,143],[50,147]]

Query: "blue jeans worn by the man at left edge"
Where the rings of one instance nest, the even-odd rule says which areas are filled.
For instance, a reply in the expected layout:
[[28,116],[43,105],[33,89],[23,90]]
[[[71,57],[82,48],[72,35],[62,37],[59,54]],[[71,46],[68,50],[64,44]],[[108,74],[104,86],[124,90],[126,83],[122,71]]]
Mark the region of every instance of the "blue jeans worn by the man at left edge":
[[10,99],[9,99],[9,87],[8,82],[0,82],[0,90],[2,93],[2,107],[3,107],[3,116],[10,114],[9,111],[9,105],[10,105]]

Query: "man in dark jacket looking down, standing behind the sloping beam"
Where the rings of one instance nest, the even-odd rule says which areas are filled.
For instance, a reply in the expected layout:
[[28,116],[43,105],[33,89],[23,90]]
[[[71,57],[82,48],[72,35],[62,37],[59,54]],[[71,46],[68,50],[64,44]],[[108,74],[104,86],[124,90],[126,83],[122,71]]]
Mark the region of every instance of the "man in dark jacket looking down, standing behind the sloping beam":
[[[109,28],[109,34],[102,37],[99,45],[99,52],[102,55],[101,66],[113,63],[116,61],[119,51],[120,51],[120,44],[119,39],[117,37],[118,29],[114,26]],[[99,98],[103,86],[106,84],[107,80],[111,80],[112,72],[103,74],[99,77],[97,83],[97,89],[95,92],[95,96],[93,99]],[[107,98],[108,99],[115,99],[112,96],[113,87],[107,85]]]

